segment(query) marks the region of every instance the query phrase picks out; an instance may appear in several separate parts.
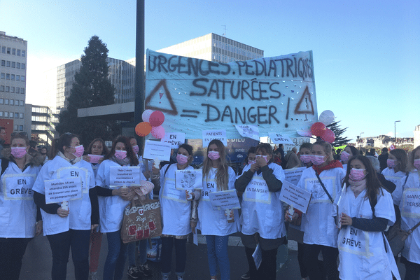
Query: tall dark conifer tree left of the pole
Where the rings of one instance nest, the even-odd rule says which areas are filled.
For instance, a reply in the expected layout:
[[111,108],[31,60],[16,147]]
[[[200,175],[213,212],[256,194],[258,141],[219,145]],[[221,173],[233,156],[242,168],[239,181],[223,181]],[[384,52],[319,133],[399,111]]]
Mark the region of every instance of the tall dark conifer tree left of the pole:
[[92,36],[85,54],[80,57],[82,65],[74,76],[71,94],[66,100],[66,110],[59,114],[57,132],[71,132],[80,136],[83,144],[95,138],[112,139],[120,134],[116,120],[103,118],[77,118],[77,110],[114,103],[114,87],[108,78],[108,48],[98,36]]

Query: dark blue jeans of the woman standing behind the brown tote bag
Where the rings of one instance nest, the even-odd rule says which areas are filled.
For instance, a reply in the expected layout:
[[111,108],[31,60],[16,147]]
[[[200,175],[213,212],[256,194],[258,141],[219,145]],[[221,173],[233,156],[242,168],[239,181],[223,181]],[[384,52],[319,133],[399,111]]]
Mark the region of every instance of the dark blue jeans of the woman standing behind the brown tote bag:
[[108,239],[108,255],[104,265],[104,280],[121,280],[127,259],[127,244],[123,244],[120,230],[107,232],[106,238]]

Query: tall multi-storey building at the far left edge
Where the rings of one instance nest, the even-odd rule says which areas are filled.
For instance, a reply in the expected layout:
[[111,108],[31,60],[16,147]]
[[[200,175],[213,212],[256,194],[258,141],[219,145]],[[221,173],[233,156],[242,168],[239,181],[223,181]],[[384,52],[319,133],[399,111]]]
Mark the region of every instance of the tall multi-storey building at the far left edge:
[[25,125],[27,41],[0,31],[0,62],[0,119],[13,119],[13,131],[30,134]]

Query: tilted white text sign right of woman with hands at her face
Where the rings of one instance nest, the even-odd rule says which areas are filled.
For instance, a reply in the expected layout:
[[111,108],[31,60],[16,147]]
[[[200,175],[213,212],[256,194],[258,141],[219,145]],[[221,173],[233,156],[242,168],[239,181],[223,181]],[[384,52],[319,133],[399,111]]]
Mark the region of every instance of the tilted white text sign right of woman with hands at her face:
[[306,213],[312,194],[302,188],[289,183],[283,182],[280,191],[280,200],[286,204],[293,205],[293,207],[302,213]]

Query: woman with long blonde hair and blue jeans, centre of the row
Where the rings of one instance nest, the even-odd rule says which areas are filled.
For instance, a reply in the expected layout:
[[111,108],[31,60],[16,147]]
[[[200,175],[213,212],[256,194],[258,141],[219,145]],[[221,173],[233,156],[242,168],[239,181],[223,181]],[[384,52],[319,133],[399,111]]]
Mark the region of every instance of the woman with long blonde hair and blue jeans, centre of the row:
[[210,141],[202,170],[203,190],[198,204],[197,228],[206,236],[211,279],[217,279],[219,269],[221,280],[228,280],[230,279],[228,240],[229,235],[239,230],[239,214],[237,209],[214,210],[209,199],[209,193],[235,190],[235,172],[228,165],[225,146],[220,140]]

